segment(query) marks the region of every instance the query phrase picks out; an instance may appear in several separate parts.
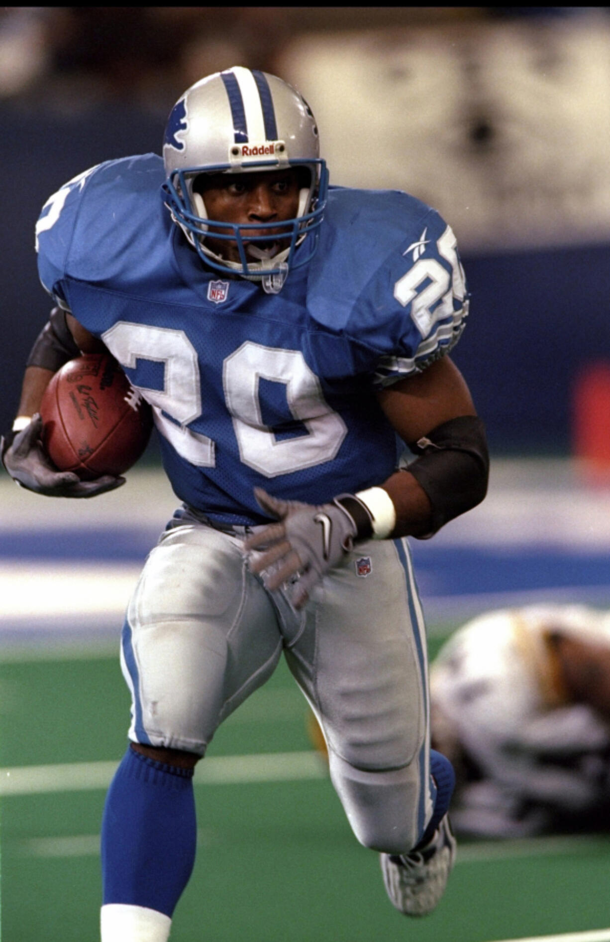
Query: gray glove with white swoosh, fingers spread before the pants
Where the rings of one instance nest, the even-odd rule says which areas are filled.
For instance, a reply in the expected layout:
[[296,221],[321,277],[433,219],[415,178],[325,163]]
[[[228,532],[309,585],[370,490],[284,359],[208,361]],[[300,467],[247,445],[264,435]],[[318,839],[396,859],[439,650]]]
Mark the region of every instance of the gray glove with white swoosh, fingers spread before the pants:
[[[363,505],[353,495],[341,495],[318,506],[303,504],[272,497],[260,487],[254,488],[254,496],[279,523],[269,524],[245,541],[247,550],[263,549],[258,559],[250,560],[250,570],[263,574],[265,586],[272,591],[301,573],[292,597],[294,607],[301,609],[316,582],[345,559],[354,541],[370,535],[370,531],[359,532],[356,520],[340,499],[348,505],[350,501],[361,508]],[[368,522],[370,526],[370,517]]]

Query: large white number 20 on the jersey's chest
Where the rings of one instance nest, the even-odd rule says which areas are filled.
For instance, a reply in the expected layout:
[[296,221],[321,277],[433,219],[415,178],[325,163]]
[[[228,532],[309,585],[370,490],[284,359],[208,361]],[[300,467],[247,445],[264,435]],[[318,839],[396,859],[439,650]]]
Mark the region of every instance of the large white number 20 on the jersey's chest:
[[[122,366],[134,369],[138,359],[164,364],[163,389],[142,389],[153,406],[155,424],[186,461],[214,467],[215,443],[187,428],[200,417],[202,407],[197,353],[185,332],[120,320],[102,339]],[[265,426],[261,377],[285,385],[288,408],[305,426],[302,435],[280,441]],[[345,422],[329,407],[300,350],[247,341],[224,361],[223,385],[240,458],[266,478],[328,462],[339,451],[347,434]]]

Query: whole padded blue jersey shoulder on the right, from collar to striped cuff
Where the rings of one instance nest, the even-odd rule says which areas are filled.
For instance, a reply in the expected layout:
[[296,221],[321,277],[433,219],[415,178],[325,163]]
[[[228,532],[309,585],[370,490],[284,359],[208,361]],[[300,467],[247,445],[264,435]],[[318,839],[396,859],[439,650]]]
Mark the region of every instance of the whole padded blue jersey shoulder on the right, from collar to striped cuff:
[[435,209],[398,190],[335,189],[322,230],[308,306],[377,350],[378,384],[454,346],[468,299],[455,235]]

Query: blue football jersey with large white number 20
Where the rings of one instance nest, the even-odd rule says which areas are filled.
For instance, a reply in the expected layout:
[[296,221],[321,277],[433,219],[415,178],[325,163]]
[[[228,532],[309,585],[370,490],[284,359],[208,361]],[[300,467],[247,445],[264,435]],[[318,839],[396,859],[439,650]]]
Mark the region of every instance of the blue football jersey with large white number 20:
[[317,252],[280,294],[205,268],[156,154],[108,161],[42,208],[40,280],[150,402],[176,495],[260,523],[255,486],[322,503],[381,483],[396,437],[375,391],[458,340],[456,240],[406,193],[331,187]]

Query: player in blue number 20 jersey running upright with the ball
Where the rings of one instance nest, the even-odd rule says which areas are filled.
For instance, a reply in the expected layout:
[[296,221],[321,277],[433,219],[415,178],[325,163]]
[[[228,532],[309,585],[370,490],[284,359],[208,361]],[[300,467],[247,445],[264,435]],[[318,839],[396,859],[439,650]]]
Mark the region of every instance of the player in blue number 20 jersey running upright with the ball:
[[195,764],[282,652],[394,906],[431,912],[455,856],[453,771],[429,748],[405,538],[478,504],[489,470],[447,355],[468,309],[451,228],[405,193],[329,187],[301,95],[236,67],[185,91],[163,159],[75,177],[37,235],[56,308],[8,473],[46,495],[122,483],[58,473],[40,446],[46,383],[102,345],[153,407],[182,501],[123,628],[131,742],[104,810],[104,942],[168,938],[195,858]]

